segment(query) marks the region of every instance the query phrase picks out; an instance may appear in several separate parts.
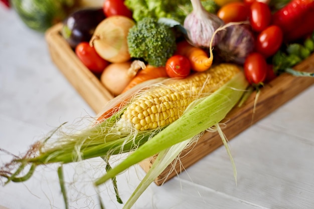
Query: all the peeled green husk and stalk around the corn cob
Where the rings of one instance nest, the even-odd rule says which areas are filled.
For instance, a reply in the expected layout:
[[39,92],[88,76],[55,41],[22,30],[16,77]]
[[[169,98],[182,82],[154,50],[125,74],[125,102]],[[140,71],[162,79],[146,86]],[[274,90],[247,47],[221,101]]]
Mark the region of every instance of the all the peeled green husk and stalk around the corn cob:
[[[56,140],[49,136],[46,140],[35,143],[26,155],[17,157],[7,164],[15,167],[15,170],[0,169],[0,176],[7,178],[6,183],[25,181],[32,176],[35,168],[42,164],[59,163],[62,166],[65,163],[94,157],[102,157],[107,162],[111,155],[130,152],[131,154],[116,167],[111,168],[108,165],[107,173],[94,182],[94,185],[98,186],[109,179],[114,182],[115,176],[123,170],[159,153],[156,159],[158,163],[153,165],[149,171],[147,182],[134,193],[133,199],[126,204],[126,208],[129,208],[149,183],[189,144],[190,140],[225,118],[240,100],[247,86],[244,74],[239,72],[215,93],[194,103],[193,107],[188,108],[178,120],[168,126],[150,131],[135,129],[123,131],[115,128],[123,114],[123,109],[110,118],[77,133],[65,134],[60,131],[61,135],[57,136]],[[54,131],[52,135],[55,135],[58,130]],[[61,166],[58,172],[62,177]],[[27,174],[21,176],[28,167],[30,170]],[[60,179],[60,184],[62,182],[63,178]],[[64,185],[61,187],[66,198]],[[119,199],[118,194],[117,199]]]

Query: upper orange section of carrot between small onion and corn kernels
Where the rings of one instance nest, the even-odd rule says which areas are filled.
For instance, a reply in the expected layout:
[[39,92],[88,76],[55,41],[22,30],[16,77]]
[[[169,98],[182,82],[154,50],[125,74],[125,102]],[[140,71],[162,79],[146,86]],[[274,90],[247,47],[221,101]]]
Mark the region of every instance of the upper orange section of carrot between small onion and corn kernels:
[[130,88],[144,81],[148,81],[150,79],[155,79],[155,78],[163,78],[163,77],[169,77],[167,75],[165,67],[147,66],[145,69],[138,71],[136,76],[124,88],[122,93],[126,92]]

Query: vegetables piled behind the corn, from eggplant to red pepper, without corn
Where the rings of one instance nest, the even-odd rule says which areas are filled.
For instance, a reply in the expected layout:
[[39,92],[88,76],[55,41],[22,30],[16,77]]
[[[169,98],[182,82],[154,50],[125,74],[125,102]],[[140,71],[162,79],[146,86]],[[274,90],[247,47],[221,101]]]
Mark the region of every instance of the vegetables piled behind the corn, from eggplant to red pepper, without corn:
[[[291,67],[313,51],[313,7],[311,0],[108,0],[102,8],[71,14],[62,35],[113,96],[129,88],[146,66],[156,70],[135,80],[164,77],[163,68],[166,77],[184,78],[212,64],[235,63],[259,88],[282,72],[300,75]],[[143,63],[131,67],[133,61]]]

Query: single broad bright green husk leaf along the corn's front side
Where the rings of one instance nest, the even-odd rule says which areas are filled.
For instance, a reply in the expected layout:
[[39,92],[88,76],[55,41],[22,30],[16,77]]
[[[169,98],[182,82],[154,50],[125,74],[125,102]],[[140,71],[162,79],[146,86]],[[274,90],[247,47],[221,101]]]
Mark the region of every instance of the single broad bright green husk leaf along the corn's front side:
[[178,120],[171,123],[159,134],[156,134],[149,141],[132,152],[119,165],[97,179],[95,185],[100,185],[131,165],[177,143],[188,140],[207,128],[218,124],[237,104],[247,86],[248,83],[243,73],[238,73],[227,84],[206,97],[192,110],[183,114]]

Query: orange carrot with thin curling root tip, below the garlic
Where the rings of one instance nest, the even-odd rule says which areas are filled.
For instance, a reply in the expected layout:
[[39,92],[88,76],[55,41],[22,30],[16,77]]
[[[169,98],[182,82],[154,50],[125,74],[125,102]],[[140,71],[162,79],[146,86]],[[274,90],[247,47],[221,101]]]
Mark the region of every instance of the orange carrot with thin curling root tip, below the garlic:
[[210,57],[208,57],[203,49],[194,47],[187,41],[177,44],[177,54],[187,57],[190,60],[192,69],[197,72],[206,71],[213,64],[212,50],[210,50]]

